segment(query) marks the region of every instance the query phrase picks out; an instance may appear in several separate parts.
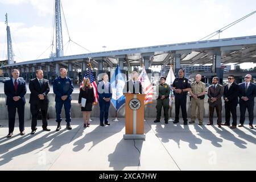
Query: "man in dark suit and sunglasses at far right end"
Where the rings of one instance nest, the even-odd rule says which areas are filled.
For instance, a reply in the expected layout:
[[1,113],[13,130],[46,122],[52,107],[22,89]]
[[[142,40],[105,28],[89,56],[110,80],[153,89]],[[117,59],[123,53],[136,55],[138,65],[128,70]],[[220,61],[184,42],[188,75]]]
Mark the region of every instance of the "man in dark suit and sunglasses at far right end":
[[253,129],[254,118],[254,97],[256,96],[256,86],[251,83],[251,75],[245,76],[245,82],[239,84],[239,105],[240,105],[240,125],[242,127],[245,122],[246,109],[249,113],[249,127]]

